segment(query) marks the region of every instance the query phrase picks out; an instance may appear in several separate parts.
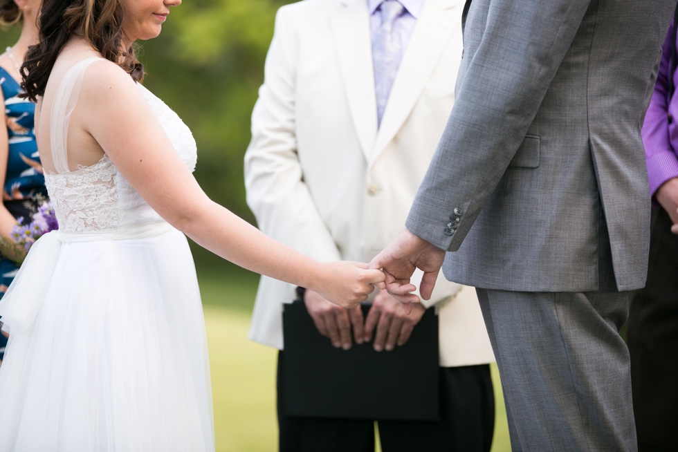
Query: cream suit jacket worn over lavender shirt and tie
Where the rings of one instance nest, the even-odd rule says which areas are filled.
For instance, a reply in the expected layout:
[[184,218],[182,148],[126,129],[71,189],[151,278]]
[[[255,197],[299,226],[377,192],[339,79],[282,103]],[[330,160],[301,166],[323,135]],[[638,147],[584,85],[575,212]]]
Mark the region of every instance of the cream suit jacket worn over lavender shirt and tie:
[[[455,101],[463,6],[425,3],[380,128],[367,0],[280,8],[245,156],[265,234],[318,261],[369,262],[405,227]],[[283,303],[294,298],[292,285],[262,277],[250,339],[282,350]],[[441,274],[432,303],[441,366],[494,361],[473,288]]]

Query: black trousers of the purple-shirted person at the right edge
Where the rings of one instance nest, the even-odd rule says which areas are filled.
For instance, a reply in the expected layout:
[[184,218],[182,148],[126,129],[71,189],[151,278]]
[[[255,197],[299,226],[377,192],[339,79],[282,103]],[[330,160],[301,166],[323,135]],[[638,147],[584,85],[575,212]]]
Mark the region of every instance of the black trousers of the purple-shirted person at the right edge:
[[678,236],[652,210],[648,283],[631,294],[627,340],[640,452],[678,451]]

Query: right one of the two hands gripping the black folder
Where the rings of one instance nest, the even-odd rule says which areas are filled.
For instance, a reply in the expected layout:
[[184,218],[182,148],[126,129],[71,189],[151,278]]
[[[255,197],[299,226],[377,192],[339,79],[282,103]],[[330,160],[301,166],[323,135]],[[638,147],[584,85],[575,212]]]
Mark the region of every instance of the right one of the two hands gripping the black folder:
[[403,303],[382,290],[374,298],[372,308],[367,313],[365,342],[372,340],[376,327],[374,350],[390,352],[396,348],[396,343],[398,346],[404,345],[424,312],[425,308],[420,304],[412,305],[412,312],[405,310]]

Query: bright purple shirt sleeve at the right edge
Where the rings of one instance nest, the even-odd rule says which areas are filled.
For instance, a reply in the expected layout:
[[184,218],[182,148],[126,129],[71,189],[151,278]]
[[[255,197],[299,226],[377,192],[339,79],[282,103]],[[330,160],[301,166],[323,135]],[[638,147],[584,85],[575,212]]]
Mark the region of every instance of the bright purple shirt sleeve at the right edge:
[[[676,156],[674,151],[676,148],[673,146],[673,144],[678,144],[678,140],[671,140],[670,128],[673,128],[673,124],[669,124],[668,121],[669,113],[678,113],[678,96],[672,96],[670,105],[666,99],[668,77],[674,76],[674,74],[669,74],[672,37],[673,26],[669,28],[666,41],[664,41],[661,49],[662,56],[657,84],[654,85],[654,93],[652,93],[652,100],[648,113],[645,115],[645,123],[642,129],[645,160],[648,164],[648,176],[650,178],[650,193],[653,197],[664,182],[678,178],[678,156]],[[675,115],[673,117],[674,122],[678,120]]]

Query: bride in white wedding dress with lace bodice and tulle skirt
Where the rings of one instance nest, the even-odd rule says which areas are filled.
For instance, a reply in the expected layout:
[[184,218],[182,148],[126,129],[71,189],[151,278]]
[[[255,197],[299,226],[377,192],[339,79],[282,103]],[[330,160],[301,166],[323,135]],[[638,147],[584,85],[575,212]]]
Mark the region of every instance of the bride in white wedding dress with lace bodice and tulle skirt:
[[60,229],[0,303],[0,451],[213,451],[187,235],[238,265],[357,305],[378,270],[318,263],[213,203],[190,130],[139,84],[136,39],[181,0],[44,0],[24,89]]

